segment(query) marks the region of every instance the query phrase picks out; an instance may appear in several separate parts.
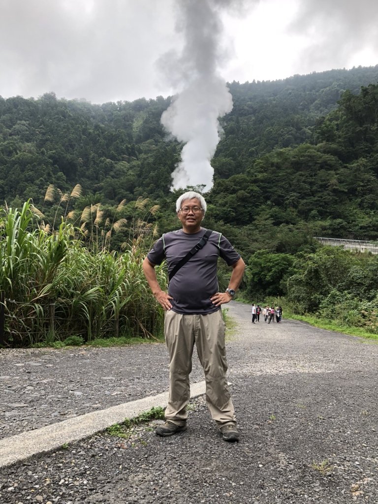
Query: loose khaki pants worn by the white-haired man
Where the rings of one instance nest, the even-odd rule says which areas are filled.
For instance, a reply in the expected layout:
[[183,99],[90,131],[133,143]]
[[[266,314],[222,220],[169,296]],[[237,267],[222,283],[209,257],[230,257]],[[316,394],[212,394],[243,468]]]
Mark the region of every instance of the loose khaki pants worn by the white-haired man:
[[165,312],[164,333],[169,351],[169,399],[165,418],[178,425],[187,419],[190,399],[189,374],[196,343],[204,368],[206,402],[218,425],[235,424],[235,411],[226,380],[225,323],[222,311],[208,315]]

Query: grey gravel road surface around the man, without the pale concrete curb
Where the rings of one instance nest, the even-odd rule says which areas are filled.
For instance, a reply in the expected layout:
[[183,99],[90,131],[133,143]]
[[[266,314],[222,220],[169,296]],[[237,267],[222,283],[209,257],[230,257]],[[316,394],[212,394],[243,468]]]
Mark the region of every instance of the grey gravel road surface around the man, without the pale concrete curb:
[[[378,503],[378,345],[231,302],[227,343],[241,439],[225,443],[204,397],[188,430],[99,433],[1,469],[0,502]],[[164,344],[0,351],[0,437],[167,388]],[[203,380],[194,357],[192,382]]]

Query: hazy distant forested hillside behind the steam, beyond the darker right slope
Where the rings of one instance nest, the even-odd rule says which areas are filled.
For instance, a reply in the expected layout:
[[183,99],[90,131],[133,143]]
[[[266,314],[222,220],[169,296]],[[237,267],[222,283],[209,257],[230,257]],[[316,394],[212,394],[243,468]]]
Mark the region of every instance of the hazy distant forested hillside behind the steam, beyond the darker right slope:
[[[319,129],[319,117],[336,108],[343,91],[356,94],[376,82],[378,66],[231,83],[234,108],[223,120],[215,179],[249,177],[257,158],[323,140],[328,123]],[[110,204],[168,195],[181,149],[166,140],[160,124],[169,103],[169,97],[102,105],[58,100],[53,93],[0,97],[0,201],[18,196],[38,205],[49,184],[67,191],[80,183],[86,197]]]

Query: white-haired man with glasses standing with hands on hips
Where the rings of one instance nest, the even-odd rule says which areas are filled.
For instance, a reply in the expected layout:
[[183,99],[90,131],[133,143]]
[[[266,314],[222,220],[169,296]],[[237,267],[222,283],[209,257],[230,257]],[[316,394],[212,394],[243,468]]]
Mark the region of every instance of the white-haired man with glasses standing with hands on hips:
[[[225,323],[221,305],[235,295],[245,264],[221,233],[212,231],[203,248],[171,277],[168,292],[158,284],[155,266],[166,259],[172,275],[177,263],[204,237],[201,222],[206,201],[198,193],[187,192],[176,201],[182,229],[164,234],[143,262],[152,293],[165,310],[164,334],[169,352],[169,398],[166,422],[156,434],[169,436],[186,430],[186,405],[190,399],[189,374],[196,343],[204,368],[206,402],[212,418],[226,441],[237,441],[239,432],[226,380]],[[218,291],[217,261],[221,257],[232,267],[226,292]]]

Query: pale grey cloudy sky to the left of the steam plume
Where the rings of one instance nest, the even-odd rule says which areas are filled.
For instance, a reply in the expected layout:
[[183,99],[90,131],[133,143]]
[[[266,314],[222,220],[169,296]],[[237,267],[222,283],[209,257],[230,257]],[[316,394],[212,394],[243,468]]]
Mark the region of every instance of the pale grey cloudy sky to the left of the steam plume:
[[174,43],[170,0],[0,0],[0,95],[152,96]]

